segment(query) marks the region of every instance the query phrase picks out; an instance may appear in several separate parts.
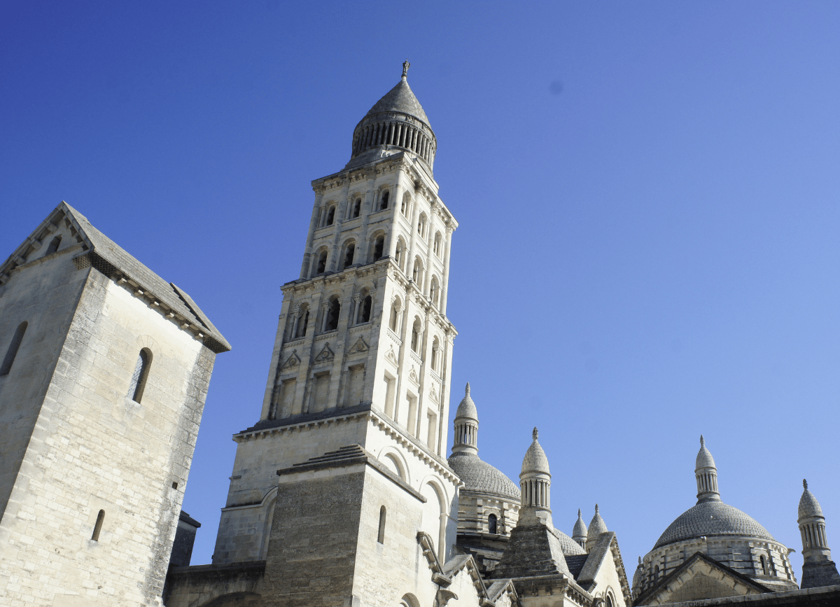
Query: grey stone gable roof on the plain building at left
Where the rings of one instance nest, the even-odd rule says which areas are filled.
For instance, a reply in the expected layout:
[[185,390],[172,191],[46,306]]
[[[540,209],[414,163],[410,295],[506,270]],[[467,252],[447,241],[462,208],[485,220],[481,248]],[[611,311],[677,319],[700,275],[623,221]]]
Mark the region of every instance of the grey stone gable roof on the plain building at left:
[[[66,222],[66,227],[71,230],[71,234],[76,237],[76,241],[85,251],[81,256],[77,256],[77,265],[87,263],[119,283],[129,283],[129,286],[135,289],[135,294],[157,302],[160,308],[172,314],[170,318],[177,319],[182,328],[189,328],[196,333],[202,339],[202,343],[217,354],[230,350],[228,340],[224,339],[210,319],[183,289],[176,287],[172,282],[166,282],[145,267],[108,236],[93,227],[87,217],[63,201],[24,240],[24,243],[18,246],[3,264],[0,264],[0,283],[7,282],[8,275],[16,267],[26,263],[27,251],[38,248],[40,241],[45,239],[46,235],[52,234],[55,226],[61,221]],[[37,246],[34,246],[36,243]],[[80,267],[83,266],[80,265]]]

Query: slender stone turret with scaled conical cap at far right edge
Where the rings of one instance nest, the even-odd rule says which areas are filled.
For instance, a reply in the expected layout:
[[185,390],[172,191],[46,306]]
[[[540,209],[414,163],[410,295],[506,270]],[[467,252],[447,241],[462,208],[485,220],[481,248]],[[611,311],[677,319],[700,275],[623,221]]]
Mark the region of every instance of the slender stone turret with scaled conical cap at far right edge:
[[820,503],[802,480],[802,497],[799,499],[799,530],[802,534],[802,584],[801,588],[816,588],[840,584],[837,565],[832,562],[832,551],[826,538],[826,517]]

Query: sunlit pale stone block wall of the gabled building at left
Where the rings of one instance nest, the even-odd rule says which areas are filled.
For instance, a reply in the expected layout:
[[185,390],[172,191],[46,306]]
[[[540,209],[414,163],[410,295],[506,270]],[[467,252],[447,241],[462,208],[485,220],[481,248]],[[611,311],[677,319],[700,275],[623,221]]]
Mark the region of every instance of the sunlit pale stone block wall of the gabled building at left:
[[[160,604],[215,354],[97,270],[64,263],[67,272],[66,291],[83,285],[77,304],[59,291],[29,314],[42,360],[55,351],[57,362],[28,405],[37,420],[0,523],[0,595],[8,605]],[[45,304],[55,298],[72,309],[63,340],[55,326],[66,321]],[[135,403],[142,348],[153,357]],[[22,346],[22,366],[37,354]]]

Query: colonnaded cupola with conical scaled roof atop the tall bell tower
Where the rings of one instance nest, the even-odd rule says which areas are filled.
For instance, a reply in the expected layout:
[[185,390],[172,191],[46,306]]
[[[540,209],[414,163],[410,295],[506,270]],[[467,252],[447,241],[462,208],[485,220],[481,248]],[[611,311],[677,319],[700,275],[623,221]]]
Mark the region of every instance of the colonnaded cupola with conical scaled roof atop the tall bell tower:
[[390,153],[408,151],[422,159],[431,171],[438,140],[428,124],[423,106],[408,86],[408,61],[402,78],[370,108],[353,131],[350,165],[361,165]]

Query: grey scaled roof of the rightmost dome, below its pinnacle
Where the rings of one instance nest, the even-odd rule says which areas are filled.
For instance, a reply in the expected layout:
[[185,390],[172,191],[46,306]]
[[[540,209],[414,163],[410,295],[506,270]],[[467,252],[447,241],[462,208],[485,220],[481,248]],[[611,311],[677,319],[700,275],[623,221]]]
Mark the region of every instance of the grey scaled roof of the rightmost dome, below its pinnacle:
[[659,536],[654,550],[675,541],[690,540],[702,536],[743,536],[774,540],[753,517],[722,501],[701,502],[671,523]]

